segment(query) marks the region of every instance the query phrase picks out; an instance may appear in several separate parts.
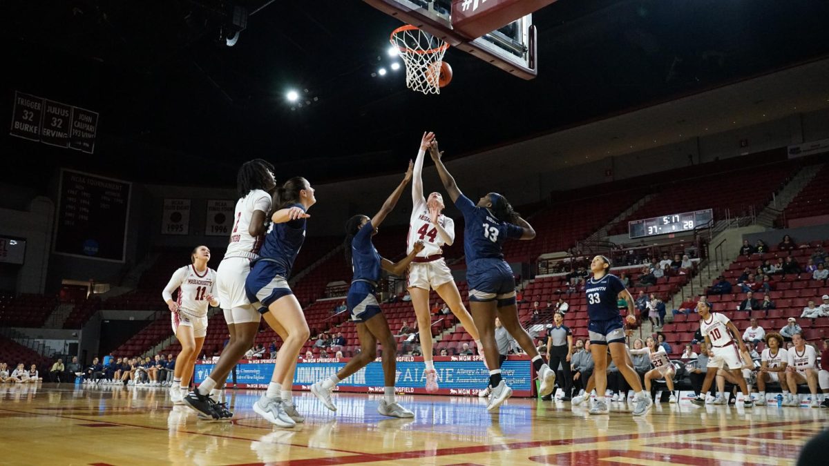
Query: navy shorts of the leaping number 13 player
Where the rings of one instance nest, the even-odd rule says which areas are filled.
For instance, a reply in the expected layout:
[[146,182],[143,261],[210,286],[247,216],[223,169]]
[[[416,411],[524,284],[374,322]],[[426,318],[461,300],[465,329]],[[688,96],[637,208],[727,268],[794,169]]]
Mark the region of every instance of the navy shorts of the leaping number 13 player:
[[516,279],[502,259],[478,259],[467,264],[469,301],[498,301],[498,307],[516,302]]

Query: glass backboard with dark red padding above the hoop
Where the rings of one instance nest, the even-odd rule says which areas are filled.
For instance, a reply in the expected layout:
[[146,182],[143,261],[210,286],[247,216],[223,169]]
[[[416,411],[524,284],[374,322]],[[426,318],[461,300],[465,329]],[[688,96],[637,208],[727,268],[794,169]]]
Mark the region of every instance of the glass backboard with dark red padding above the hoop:
[[555,0],[363,0],[525,80],[538,73],[532,12]]

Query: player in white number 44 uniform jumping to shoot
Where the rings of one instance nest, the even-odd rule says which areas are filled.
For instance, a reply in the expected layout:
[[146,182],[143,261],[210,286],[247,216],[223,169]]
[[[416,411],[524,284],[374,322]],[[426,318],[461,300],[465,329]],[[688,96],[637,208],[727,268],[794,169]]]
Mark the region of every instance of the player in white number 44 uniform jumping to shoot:
[[420,150],[414,160],[412,173],[412,215],[409,223],[409,237],[406,239],[406,253],[419,241],[424,249],[409,266],[406,287],[414,306],[420,333],[420,347],[423,352],[426,376],[426,391],[438,390],[438,376],[432,360],[432,316],[429,313],[429,289],[434,289],[447,303],[449,309],[460,320],[463,328],[473,337],[478,348],[481,340],[472,315],[463,305],[461,294],[444,260],[443,246],[452,245],[455,240],[455,222],[444,216],[444,197],[439,192],[429,194],[427,201],[423,197],[423,161],[426,150],[438,152],[438,141],[434,133],[424,133],[420,140]]

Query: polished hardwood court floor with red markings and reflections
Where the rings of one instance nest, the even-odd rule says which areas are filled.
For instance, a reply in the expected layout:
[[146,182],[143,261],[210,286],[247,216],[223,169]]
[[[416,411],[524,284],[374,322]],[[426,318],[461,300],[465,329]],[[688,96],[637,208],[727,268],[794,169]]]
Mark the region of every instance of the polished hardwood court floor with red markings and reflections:
[[[829,410],[621,403],[590,416],[570,403],[400,396],[414,420],[377,414],[378,396],[337,394],[336,414],[297,393],[294,430],[260,419],[262,391],[227,391],[235,421],[208,423],[164,388],[0,386],[0,464],[793,464]],[[15,453],[17,452],[17,453]],[[604,460],[603,460],[604,459]]]

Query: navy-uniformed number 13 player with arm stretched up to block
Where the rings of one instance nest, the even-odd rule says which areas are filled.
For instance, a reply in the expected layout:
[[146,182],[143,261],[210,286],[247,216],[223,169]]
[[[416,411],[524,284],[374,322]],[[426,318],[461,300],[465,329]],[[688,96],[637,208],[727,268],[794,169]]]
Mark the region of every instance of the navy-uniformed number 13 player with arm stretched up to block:
[[532,358],[532,365],[541,379],[541,396],[550,395],[555,384],[555,371],[547,366],[530,335],[521,327],[516,307],[516,282],[510,265],[504,260],[502,245],[507,238],[532,240],[536,231],[521,218],[507,199],[496,192],[490,192],[473,204],[458,189],[454,178],[441,161],[443,153],[429,151],[438,168],[440,181],[463,214],[463,252],[466,254],[467,282],[469,284],[469,307],[475,327],[481,336],[484,357],[489,371],[489,385],[492,395],[487,410],[495,410],[512,395],[512,390],[501,378],[498,364],[498,347],[495,342],[495,318],[499,318],[507,332],[516,339],[526,354]]

